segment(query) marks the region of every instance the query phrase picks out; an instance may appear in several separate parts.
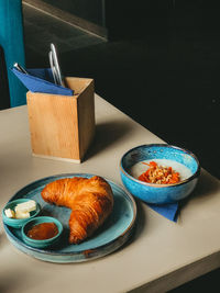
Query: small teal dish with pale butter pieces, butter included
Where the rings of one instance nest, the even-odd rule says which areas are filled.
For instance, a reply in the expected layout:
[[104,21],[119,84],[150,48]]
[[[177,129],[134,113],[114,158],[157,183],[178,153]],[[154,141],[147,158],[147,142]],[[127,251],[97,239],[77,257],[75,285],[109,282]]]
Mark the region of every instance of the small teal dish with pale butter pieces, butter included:
[[40,204],[31,199],[10,201],[2,211],[3,223],[13,228],[21,228],[30,218],[35,217],[40,211]]

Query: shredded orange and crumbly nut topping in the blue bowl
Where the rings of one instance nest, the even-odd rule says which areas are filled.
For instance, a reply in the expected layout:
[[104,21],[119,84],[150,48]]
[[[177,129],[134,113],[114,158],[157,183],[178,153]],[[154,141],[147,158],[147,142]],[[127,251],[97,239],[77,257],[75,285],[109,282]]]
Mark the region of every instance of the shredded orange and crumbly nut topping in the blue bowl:
[[155,184],[174,184],[180,181],[179,173],[172,167],[158,166],[155,161],[143,164],[147,165],[148,169],[139,177],[141,181]]

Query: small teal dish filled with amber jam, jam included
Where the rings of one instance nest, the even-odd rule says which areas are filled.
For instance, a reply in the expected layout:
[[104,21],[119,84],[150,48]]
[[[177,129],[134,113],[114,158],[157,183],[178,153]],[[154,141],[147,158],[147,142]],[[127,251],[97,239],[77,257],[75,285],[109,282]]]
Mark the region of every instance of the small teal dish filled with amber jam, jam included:
[[22,227],[23,240],[36,248],[45,248],[54,245],[63,233],[62,223],[51,216],[38,216],[30,219]]

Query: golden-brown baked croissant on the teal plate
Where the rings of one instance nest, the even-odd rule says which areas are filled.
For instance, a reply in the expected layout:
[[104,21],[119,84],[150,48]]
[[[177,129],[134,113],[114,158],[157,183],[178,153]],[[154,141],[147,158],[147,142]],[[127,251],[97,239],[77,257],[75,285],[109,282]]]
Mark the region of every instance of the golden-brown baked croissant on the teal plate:
[[72,209],[69,244],[79,244],[102,225],[113,207],[110,184],[101,177],[64,178],[42,190],[45,202]]

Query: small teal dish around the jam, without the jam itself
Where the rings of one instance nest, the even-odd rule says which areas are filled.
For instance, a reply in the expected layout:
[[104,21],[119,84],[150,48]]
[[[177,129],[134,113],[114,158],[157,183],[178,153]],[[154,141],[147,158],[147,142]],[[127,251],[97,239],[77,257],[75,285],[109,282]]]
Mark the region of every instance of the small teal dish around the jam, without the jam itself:
[[[32,239],[28,236],[29,229],[31,229],[33,226],[35,226],[37,224],[42,224],[42,223],[52,223],[52,222],[58,228],[58,234],[56,234],[54,237],[48,238],[48,239],[44,239],[44,240],[35,240],[35,239]],[[22,238],[23,238],[24,243],[28,244],[29,246],[32,246],[35,248],[46,248],[46,247],[55,245],[58,241],[58,239],[61,238],[62,233],[63,233],[62,223],[57,218],[52,217],[52,216],[34,217],[34,218],[30,219],[29,222],[26,222],[21,229],[21,234],[22,234]]]

